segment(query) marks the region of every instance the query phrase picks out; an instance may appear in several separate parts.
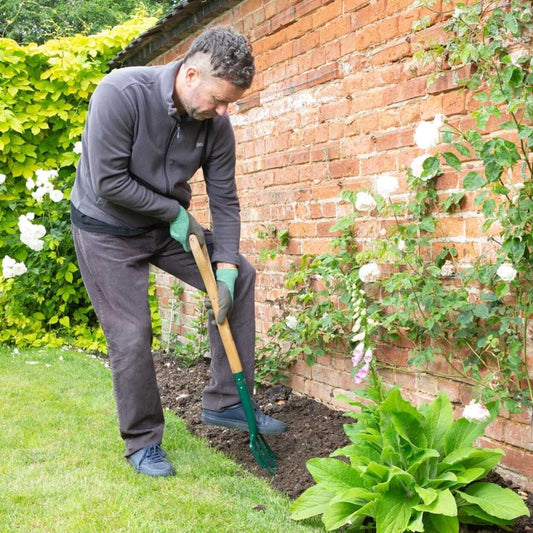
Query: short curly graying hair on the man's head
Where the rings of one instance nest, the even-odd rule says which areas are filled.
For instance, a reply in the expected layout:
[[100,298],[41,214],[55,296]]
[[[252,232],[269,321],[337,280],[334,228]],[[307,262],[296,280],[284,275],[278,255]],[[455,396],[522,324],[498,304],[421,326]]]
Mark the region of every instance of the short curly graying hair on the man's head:
[[209,57],[211,74],[241,89],[249,89],[255,74],[252,47],[231,26],[214,26],[197,37],[187,53],[185,63],[196,54]]

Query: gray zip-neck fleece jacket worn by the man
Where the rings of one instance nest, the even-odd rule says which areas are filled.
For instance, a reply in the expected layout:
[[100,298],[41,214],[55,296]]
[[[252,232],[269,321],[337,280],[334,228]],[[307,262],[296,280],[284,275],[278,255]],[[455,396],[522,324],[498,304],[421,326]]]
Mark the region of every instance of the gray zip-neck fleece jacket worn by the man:
[[122,68],[100,82],[89,103],[71,202],[114,226],[170,223],[180,205],[189,207],[187,182],[202,167],[213,221],[212,259],[238,264],[233,128],[227,115],[180,118],[172,92],[181,63]]

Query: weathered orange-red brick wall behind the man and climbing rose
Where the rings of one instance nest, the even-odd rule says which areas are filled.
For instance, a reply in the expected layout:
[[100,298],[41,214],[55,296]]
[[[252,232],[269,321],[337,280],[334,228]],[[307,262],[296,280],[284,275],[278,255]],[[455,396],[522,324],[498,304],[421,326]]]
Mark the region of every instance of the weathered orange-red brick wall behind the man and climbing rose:
[[[245,0],[215,21],[249,35],[256,55],[253,87],[231,115],[238,141],[241,250],[258,269],[258,335],[276,318],[273,302],[283,293],[291,263],[302,254],[328,250],[330,226],[347,214],[348,206],[339,201],[341,191],[370,188],[382,173],[397,175],[405,190],[404,169],[420,155],[413,141],[417,123],[437,113],[461,127],[469,123],[465,112],[475,105],[471,96],[455,90],[451,76],[431,85],[429,72],[413,59],[424,41],[442,38],[442,21],[435,15],[427,30],[412,32],[413,21],[427,14],[414,0]],[[156,62],[181,57],[189,43],[180,43]],[[193,181],[192,209],[208,224],[201,177]],[[436,181],[442,193],[459,186],[455,172]],[[372,235],[374,222],[365,227],[363,219],[361,233]],[[257,260],[265,245],[256,235],[262,224],[290,234],[286,253],[266,263]],[[465,262],[486,245],[471,200],[466,209],[447,217],[445,227],[445,239]],[[157,280],[164,331],[186,331],[187,315],[194,311],[191,294],[183,296],[179,320],[169,324],[171,281],[161,272]],[[378,357],[405,365],[408,354],[398,346],[382,349]],[[430,374],[385,375],[415,401],[446,391],[459,410],[470,400],[470,391],[458,381]],[[298,362],[290,385],[341,406],[335,395],[355,387],[350,359],[330,354],[313,367]],[[490,426],[483,444],[502,447],[507,477],[533,489],[532,440],[525,415],[504,414]]]

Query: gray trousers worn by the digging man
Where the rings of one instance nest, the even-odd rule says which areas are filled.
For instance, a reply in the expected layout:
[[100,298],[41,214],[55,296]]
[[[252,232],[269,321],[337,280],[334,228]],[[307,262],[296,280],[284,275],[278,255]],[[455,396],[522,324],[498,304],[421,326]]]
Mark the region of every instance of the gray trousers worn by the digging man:
[[[80,272],[104,331],[113,375],[120,434],[125,455],[161,444],[164,419],[152,359],[152,324],[148,303],[149,264],[205,290],[191,253],[172,239],[167,228],[120,237],[72,226]],[[208,248],[212,234],[206,231]],[[246,382],[253,390],[255,269],[241,256],[235,301],[229,318]],[[211,375],[203,407],[220,411],[239,403],[239,395],[216,326],[209,324]]]

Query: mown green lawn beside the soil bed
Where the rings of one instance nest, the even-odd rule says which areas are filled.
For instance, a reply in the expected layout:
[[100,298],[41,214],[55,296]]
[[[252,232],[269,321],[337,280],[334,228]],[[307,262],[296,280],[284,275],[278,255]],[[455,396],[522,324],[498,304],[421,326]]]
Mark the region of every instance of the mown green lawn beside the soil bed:
[[291,533],[289,500],[166,412],[177,474],[122,457],[110,370],[76,351],[0,348],[0,532]]

